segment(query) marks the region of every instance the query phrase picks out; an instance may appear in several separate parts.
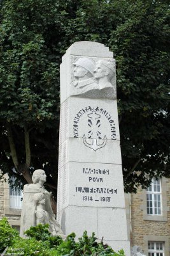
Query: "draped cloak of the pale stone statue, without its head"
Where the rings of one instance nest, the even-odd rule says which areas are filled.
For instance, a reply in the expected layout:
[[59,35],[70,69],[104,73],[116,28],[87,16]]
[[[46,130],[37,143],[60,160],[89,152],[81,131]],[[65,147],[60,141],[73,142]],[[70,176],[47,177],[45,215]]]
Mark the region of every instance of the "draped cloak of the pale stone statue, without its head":
[[21,225],[20,225],[20,236],[24,236],[25,230],[29,229],[31,226],[35,227],[38,223],[36,221],[36,203],[33,200],[33,196],[36,193],[43,193],[45,195],[45,210],[48,212],[50,217],[50,232],[55,230],[58,234],[63,234],[60,230],[59,223],[55,220],[53,216],[53,211],[50,202],[50,193],[41,186],[39,183],[36,184],[26,184],[23,191],[23,204],[21,213]]

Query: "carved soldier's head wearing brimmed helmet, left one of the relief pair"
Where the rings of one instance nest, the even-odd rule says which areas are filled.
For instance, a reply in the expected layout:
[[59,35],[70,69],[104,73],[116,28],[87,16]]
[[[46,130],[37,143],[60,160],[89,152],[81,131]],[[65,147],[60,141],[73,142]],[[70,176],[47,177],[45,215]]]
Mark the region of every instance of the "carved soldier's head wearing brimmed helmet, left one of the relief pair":
[[94,83],[94,63],[89,58],[80,58],[73,63],[74,86],[83,88],[86,85]]

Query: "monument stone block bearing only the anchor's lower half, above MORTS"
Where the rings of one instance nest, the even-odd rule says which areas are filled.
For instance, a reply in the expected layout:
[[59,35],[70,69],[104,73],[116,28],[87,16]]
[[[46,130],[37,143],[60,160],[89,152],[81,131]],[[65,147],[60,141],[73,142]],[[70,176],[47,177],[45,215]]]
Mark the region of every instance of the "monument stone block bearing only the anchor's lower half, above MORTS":
[[[65,163],[90,162],[121,164],[120,141],[68,138],[60,146],[59,168]],[[110,154],[109,154],[110,152]]]

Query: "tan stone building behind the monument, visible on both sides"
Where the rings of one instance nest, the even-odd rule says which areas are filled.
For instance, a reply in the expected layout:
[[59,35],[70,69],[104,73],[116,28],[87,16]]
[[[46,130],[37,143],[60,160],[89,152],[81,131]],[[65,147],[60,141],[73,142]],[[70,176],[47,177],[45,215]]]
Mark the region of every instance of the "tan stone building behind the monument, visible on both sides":
[[[0,182],[0,218],[20,228],[22,191]],[[170,255],[170,179],[153,179],[148,189],[125,195],[131,246],[138,245],[148,256]]]

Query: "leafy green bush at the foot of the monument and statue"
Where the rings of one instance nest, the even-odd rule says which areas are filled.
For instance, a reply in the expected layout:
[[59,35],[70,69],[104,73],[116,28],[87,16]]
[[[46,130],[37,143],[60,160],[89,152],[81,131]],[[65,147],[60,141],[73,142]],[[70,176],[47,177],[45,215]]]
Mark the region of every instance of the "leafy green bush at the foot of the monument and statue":
[[63,241],[60,236],[51,236],[48,225],[37,225],[25,232],[27,239],[19,236],[17,230],[11,228],[8,220],[0,220],[0,246],[2,250],[9,246],[8,253],[20,254],[24,256],[125,256],[124,251],[118,253],[107,244],[97,243],[95,234],[87,236],[87,231],[83,236],[75,240],[74,233],[66,237]]

